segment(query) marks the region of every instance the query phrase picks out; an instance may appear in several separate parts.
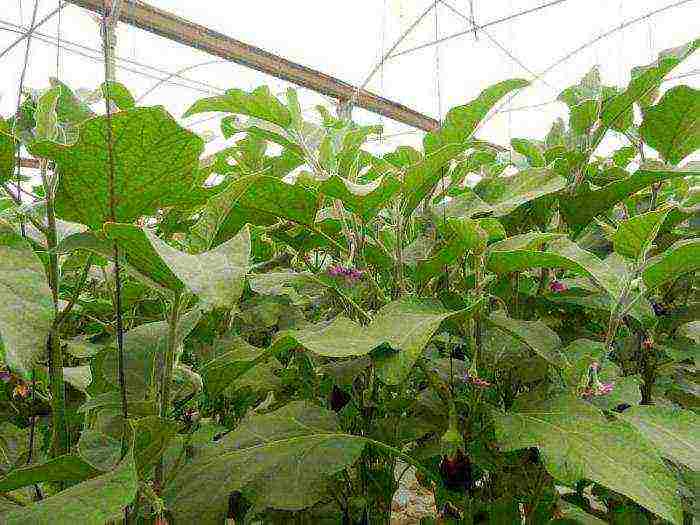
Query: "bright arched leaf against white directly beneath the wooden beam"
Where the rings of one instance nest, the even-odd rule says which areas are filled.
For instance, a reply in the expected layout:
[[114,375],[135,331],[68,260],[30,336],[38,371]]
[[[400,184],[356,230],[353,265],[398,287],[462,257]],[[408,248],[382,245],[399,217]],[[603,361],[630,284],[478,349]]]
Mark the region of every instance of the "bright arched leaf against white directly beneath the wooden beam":
[[231,89],[225,95],[199,100],[185,112],[183,118],[211,111],[247,115],[272,122],[285,129],[292,124],[291,113],[270,93],[267,86],[260,86],[250,93]]

